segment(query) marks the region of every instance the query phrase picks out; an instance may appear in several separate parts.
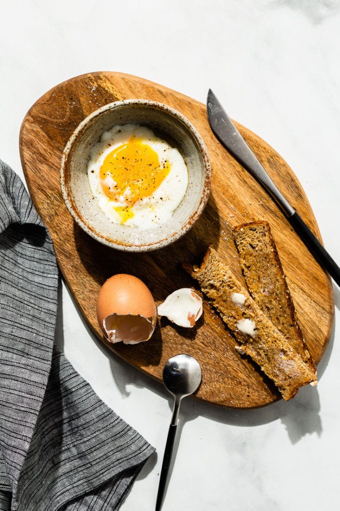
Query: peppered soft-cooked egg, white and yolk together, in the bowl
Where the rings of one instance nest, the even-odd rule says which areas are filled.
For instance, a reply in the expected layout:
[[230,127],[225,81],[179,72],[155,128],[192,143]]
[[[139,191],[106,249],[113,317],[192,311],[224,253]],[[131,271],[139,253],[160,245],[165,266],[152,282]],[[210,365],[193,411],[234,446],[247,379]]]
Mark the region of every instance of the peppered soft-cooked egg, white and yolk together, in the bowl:
[[92,194],[114,223],[149,229],[171,218],[188,185],[178,149],[149,128],[114,126],[102,134],[88,162]]

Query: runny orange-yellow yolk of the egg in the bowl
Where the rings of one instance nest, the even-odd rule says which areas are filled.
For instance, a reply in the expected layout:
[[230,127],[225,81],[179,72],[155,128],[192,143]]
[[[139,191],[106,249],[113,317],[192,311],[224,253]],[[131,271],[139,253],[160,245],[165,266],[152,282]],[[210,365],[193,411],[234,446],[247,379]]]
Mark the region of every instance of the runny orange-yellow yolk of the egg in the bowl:
[[105,157],[99,174],[101,185],[110,199],[122,203],[124,198],[124,205],[115,207],[122,223],[134,216],[133,205],[137,200],[150,196],[170,168],[168,161],[161,167],[158,154],[135,136]]

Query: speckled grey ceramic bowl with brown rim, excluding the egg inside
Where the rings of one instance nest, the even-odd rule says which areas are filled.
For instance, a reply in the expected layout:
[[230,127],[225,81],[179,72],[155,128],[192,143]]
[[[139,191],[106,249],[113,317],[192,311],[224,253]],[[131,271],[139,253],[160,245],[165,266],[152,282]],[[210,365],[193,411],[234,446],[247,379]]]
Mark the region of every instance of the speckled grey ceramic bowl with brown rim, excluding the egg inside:
[[[181,152],[188,168],[188,187],[171,219],[150,229],[113,223],[99,208],[90,190],[87,164],[103,131],[136,123],[151,128]],[[77,224],[105,245],[144,252],[164,247],[183,236],[200,217],[210,192],[211,168],[196,128],[173,108],[148,100],[117,101],[92,112],[72,133],[62,156],[61,189]]]

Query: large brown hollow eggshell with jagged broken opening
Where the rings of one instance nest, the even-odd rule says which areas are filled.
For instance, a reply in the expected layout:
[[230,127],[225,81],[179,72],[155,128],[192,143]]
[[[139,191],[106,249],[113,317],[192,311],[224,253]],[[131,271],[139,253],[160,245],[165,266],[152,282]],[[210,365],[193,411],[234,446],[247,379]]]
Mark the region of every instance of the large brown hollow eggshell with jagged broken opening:
[[118,273],[103,284],[96,304],[97,319],[112,343],[136,344],[152,336],[157,309],[147,286],[137,277]]

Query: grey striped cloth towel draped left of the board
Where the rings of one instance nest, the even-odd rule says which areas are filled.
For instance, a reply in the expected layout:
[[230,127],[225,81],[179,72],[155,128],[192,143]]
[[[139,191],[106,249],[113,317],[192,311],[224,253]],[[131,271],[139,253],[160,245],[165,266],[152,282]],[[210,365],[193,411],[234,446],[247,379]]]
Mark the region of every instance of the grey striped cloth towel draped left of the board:
[[51,238],[0,160],[0,511],[112,511],[154,451],[54,345],[58,280]]

